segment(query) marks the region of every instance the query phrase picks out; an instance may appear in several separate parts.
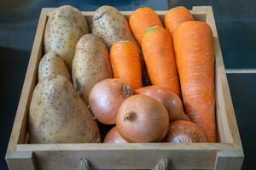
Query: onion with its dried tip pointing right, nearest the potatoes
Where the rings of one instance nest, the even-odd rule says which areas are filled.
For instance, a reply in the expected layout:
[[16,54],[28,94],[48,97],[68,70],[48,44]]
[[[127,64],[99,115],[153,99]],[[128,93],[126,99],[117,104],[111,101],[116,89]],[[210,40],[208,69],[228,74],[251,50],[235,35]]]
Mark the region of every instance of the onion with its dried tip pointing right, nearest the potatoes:
[[99,122],[115,124],[119,106],[131,95],[131,88],[119,79],[102,80],[97,82],[90,91],[90,110]]

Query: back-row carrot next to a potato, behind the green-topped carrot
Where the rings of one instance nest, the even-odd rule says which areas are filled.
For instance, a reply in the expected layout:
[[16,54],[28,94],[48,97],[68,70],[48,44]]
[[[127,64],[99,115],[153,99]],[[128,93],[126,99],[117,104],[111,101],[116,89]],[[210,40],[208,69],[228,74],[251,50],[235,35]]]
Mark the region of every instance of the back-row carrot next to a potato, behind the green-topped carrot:
[[138,8],[130,15],[129,24],[137,42],[142,44],[145,31],[152,26],[163,26],[158,14],[148,7]]

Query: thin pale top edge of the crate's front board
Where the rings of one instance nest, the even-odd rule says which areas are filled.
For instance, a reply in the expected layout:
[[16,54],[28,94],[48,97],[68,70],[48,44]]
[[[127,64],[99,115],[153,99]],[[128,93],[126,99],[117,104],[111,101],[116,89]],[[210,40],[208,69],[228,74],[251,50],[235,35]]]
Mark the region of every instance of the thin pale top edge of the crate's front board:
[[223,143],[131,143],[131,144],[18,144],[17,151],[47,150],[232,150],[233,144]]

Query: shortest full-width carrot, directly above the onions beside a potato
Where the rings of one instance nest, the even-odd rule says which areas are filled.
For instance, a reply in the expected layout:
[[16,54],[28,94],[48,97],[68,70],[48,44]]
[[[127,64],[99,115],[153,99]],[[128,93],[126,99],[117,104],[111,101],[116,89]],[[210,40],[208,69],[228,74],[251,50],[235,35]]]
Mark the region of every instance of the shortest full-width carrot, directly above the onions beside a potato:
[[143,87],[140,54],[134,42],[115,42],[110,50],[110,60],[113,77],[120,78],[133,90]]

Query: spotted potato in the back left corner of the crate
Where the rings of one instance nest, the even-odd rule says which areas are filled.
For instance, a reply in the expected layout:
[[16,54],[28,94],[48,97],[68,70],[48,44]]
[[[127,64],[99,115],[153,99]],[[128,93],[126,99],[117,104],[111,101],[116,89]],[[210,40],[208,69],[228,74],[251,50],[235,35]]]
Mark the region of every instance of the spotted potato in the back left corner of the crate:
[[69,5],[56,8],[45,28],[44,52],[59,54],[71,71],[76,44],[88,32],[87,22],[79,9]]

